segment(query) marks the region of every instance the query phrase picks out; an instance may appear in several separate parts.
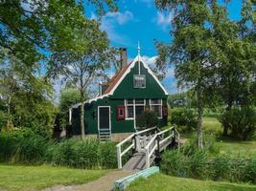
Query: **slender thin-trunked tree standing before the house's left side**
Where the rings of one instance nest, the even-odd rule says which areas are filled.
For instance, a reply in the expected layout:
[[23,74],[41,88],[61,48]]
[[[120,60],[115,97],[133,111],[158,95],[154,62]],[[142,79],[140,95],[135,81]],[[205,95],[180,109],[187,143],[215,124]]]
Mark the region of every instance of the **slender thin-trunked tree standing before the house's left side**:
[[[84,101],[86,92],[96,77],[102,76],[108,62],[108,39],[105,32],[101,32],[100,23],[90,20],[81,14],[74,23],[72,35],[73,46],[64,46],[59,50],[53,49],[51,55],[52,67],[50,74],[63,76],[80,92],[81,97],[81,138],[84,137]],[[71,29],[71,28],[70,28]],[[75,47],[75,49],[74,49]]]

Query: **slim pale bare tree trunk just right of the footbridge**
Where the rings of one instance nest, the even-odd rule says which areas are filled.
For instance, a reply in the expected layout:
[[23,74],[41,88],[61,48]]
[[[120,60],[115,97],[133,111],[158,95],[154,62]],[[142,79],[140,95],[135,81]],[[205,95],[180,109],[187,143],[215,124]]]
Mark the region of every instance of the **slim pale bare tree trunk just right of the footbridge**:
[[203,142],[202,142],[202,92],[200,85],[198,86],[198,148],[203,148]]

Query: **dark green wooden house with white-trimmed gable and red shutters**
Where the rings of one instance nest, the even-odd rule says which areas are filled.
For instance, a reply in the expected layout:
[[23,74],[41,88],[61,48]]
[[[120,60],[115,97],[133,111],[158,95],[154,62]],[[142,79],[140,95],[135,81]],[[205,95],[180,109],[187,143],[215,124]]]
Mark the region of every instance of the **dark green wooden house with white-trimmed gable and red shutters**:
[[[100,83],[99,96],[84,104],[85,135],[120,140],[136,131],[136,117],[145,110],[155,112],[159,124],[167,125],[167,96],[163,85],[144,62],[140,53],[109,82]],[[122,58],[122,56],[121,56]],[[69,119],[72,133],[81,135],[81,104],[72,106]]]

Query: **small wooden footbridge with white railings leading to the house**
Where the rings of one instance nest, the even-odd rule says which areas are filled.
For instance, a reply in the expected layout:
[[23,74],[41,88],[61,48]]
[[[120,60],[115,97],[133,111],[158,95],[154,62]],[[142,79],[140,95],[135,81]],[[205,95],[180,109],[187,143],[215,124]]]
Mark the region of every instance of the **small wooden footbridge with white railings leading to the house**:
[[[175,127],[163,131],[152,127],[136,132],[116,145],[118,168],[124,170],[149,168],[154,160],[160,159],[161,152],[166,148],[175,146],[176,143],[179,148],[179,138]],[[129,159],[123,166],[122,158],[125,155]]]

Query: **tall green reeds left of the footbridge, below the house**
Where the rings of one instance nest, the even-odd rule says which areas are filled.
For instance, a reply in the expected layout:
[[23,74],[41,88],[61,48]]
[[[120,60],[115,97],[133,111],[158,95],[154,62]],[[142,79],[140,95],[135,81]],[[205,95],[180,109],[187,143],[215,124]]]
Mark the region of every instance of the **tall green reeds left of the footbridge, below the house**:
[[48,162],[76,168],[116,168],[117,166],[116,148],[113,142],[102,143],[98,139],[77,138],[54,142],[35,135],[29,137],[24,135],[11,133],[0,136],[1,162],[30,164]]

